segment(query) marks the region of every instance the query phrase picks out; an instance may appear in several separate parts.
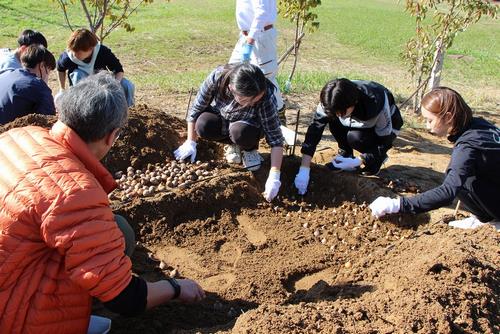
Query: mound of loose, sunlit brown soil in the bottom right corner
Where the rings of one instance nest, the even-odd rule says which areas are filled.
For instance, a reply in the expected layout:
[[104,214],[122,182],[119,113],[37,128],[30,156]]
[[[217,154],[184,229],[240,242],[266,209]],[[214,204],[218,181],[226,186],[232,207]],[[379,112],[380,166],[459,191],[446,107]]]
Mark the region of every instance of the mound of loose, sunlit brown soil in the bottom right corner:
[[357,258],[305,302],[264,304],[232,332],[498,333],[500,239],[492,228],[438,231]]

